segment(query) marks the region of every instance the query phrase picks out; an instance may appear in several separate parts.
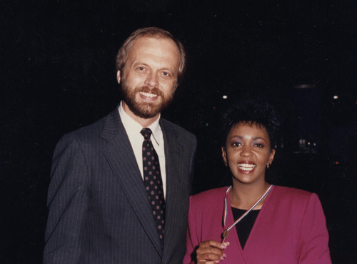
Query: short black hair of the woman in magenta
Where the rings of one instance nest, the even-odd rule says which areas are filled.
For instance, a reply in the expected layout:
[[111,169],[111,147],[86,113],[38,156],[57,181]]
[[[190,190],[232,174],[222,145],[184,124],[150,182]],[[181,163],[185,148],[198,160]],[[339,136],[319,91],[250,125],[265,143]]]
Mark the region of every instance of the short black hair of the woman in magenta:
[[276,131],[280,126],[280,116],[270,103],[257,100],[244,100],[233,104],[221,118],[221,146],[226,147],[226,141],[231,128],[238,123],[256,124],[266,128],[271,148],[275,141]]

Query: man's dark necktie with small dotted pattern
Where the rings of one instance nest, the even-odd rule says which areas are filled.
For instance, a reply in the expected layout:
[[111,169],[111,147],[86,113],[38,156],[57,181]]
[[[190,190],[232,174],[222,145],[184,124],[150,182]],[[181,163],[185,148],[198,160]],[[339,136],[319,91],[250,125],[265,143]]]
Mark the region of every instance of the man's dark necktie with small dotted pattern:
[[159,157],[151,143],[150,128],[143,128],[141,135],[144,136],[143,142],[143,172],[144,185],[149,196],[149,203],[153,211],[154,219],[158,228],[161,246],[164,245],[165,227],[165,199],[162,187]]

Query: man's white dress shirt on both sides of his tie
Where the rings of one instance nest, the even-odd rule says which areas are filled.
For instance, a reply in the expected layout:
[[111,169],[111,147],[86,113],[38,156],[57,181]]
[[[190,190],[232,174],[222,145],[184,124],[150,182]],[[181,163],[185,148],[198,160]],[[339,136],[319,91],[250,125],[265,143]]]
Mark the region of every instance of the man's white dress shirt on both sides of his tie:
[[[120,102],[119,106],[119,115],[121,118],[121,123],[125,128],[126,134],[129,137],[129,141],[131,144],[131,148],[134,151],[134,155],[136,158],[136,163],[138,163],[139,170],[141,173],[141,177],[144,181],[144,173],[143,173],[143,142],[144,136],[141,135],[140,131],[143,127],[133,118],[131,118],[123,109],[123,102]],[[162,185],[164,188],[164,196],[166,197],[166,163],[165,163],[165,148],[164,148],[164,136],[162,134],[161,127],[159,125],[159,118],[149,126],[152,131],[151,134],[151,142],[155,148],[157,155],[159,156],[159,163],[160,163],[160,171],[161,171],[161,178],[162,178]],[[154,137],[154,138],[153,138]]]

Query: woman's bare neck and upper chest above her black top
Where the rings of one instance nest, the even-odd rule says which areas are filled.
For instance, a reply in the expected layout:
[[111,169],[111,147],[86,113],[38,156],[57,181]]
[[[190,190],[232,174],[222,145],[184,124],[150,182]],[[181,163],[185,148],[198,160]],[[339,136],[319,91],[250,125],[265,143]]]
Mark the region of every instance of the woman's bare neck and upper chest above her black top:
[[[233,183],[231,191],[229,193],[231,199],[231,206],[238,209],[248,210],[263,196],[270,184],[264,181],[261,184],[250,185],[242,183]],[[256,205],[255,210],[261,209],[264,200],[261,200]]]

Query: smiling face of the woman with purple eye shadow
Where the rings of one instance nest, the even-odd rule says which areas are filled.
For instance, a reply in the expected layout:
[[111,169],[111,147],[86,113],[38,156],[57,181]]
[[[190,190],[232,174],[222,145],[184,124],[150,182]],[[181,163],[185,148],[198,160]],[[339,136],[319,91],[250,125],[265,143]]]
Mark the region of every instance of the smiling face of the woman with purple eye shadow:
[[274,154],[266,128],[259,128],[256,123],[234,125],[226,147],[222,147],[223,160],[237,183],[265,183],[266,166],[271,164]]

